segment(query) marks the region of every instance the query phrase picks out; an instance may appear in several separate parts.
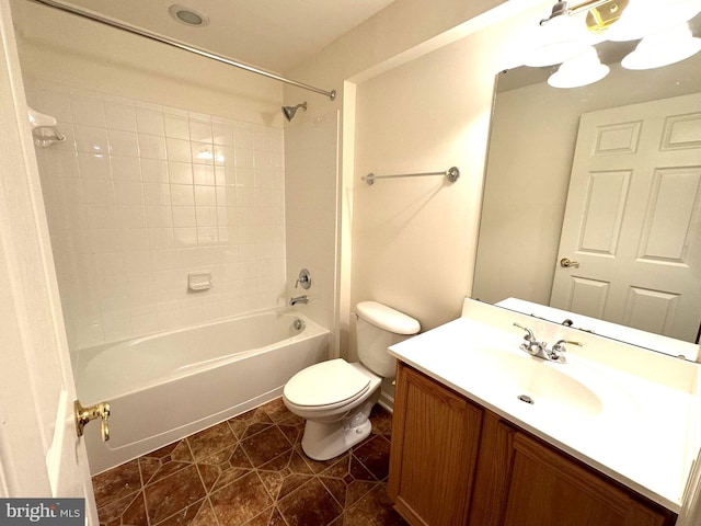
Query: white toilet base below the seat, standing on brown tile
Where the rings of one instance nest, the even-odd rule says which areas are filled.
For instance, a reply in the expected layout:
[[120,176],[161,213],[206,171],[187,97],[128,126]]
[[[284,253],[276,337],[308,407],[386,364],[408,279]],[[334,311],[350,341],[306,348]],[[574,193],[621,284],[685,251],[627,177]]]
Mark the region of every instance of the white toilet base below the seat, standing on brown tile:
[[[376,398],[378,397],[372,397],[372,399]],[[314,460],[329,460],[367,438],[372,428],[369,420],[370,411],[375,405],[372,399],[338,422],[307,420],[302,436],[304,454]]]

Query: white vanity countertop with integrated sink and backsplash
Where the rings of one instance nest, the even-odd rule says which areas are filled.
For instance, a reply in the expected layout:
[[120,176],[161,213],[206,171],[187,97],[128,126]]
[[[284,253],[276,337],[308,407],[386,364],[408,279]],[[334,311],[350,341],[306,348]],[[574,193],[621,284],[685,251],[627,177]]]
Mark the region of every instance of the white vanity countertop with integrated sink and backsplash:
[[[692,461],[699,453],[699,365],[640,350],[600,336],[572,333],[524,315],[486,304],[466,301],[463,317],[390,347],[402,362],[462,393],[467,398],[513,422],[583,462],[610,476],[666,508],[679,513]],[[466,316],[470,316],[467,318]],[[479,321],[475,321],[475,319]],[[583,347],[568,346],[566,364],[530,357],[518,348],[529,327],[539,340],[577,340]],[[548,338],[542,338],[541,334]],[[513,353],[514,364],[543,366],[572,376],[600,398],[600,412],[563,411],[550,402],[567,403],[567,396],[538,393],[536,403],[517,399],[513,385],[497,381],[495,371],[485,373],[484,352]],[[496,353],[497,351],[495,351]],[[481,354],[480,354],[481,353]],[[642,354],[641,354],[642,353]],[[510,364],[510,362],[508,362]],[[541,365],[535,365],[540,367]],[[514,367],[514,365],[512,365]],[[565,384],[566,385],[566,384]],[[520,388],[518,388],[520,389]],[[568,388],[570,389],[570,388]],[[526,388],[526,390],[530,390]],[[586,389],[585,389],[586,391]],[[556,392],[556,391],[555,391]],[[526,392],[530,395],[530,392]],[[539,404],[539,397],[542,403]],[[545,398],[550,400],[545,400]],[[574,399],[573,399],[574,400]]]

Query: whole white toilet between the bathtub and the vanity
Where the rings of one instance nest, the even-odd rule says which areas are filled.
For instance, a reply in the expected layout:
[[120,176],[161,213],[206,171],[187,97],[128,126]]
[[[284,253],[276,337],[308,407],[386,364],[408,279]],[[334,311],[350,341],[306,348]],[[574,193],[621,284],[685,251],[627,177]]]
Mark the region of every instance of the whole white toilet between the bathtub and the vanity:
[[302,449],[327,460],[370,434],[369,415],[382,378],[394,378],[395,359],[387,347],[417,334],[418,321],[377,301],[356,306],[359,363],[343,358],[312,365],[292,376],[283,390],[287,409],[307,421]]

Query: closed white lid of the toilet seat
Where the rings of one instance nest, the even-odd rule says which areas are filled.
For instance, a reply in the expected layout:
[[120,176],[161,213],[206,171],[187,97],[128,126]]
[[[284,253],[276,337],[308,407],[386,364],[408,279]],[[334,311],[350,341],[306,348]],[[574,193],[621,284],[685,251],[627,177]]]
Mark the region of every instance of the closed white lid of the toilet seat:
[[285,397],[296,405],[322,407],[357,398],[370,379],[343,358],[307,367],[285,385]]

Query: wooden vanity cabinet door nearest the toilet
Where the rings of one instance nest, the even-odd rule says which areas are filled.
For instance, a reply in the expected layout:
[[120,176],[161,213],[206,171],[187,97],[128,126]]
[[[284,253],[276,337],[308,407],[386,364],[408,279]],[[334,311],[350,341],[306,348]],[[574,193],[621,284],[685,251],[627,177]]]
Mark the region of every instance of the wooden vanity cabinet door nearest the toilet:
[[483,410],[400,364],[388,490],[418,526],[467,524]]

